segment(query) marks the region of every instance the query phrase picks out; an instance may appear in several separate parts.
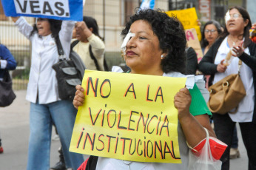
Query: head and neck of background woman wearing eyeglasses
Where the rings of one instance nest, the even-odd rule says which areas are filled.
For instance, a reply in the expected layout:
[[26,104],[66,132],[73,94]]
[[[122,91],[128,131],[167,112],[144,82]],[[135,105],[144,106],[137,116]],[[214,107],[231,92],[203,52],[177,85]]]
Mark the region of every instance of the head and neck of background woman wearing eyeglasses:
[[201,47],[203,50],[203,55],[209,50],[209,47],[216,41],[219,37],[220,33],[222,33],[220,23],[215,20],[207,21],[203,26]]

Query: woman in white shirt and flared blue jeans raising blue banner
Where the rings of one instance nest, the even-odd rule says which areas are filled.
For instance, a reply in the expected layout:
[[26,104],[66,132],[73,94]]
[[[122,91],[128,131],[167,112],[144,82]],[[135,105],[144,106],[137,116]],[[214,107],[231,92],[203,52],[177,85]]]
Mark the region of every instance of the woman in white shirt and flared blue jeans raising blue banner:
[[78,169],[82,154],[69,152],[76,110],[72,101],[58,97],[58,84],[53,64],[58,62],[55,38],[59,37],[65,57],[70,54],[73,21],[37,18],[31,26],[23,17],[12,17],[18,30],[31,41],[32,56],[27,85],[30,101],[30,140],[27,170],[50,168],[50,142],[53,122],[61,140],[67,168]]

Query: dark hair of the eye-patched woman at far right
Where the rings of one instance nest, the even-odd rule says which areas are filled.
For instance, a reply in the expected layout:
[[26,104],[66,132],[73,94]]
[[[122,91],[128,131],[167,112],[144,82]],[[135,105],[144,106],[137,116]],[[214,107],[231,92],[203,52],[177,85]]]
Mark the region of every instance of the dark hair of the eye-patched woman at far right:
[[[239,11],[239,13],[242,15],[243,17],[243,21],[246,21],[246,19],[248,19],[248,24],[246,27],[244,27],[243,29],[243,35],[240,35],[240,40],[243,39],[244,37],[244,42],[243,42],[243,47],[248,47],[249,44],[252,42],[251,39],[249,38],[249,30],[251,29],[252,27],[252,21],[251,21],[251,18],[249,16],[249,13],[247,12],[246,9],[244,9],[243,7],[238,7],[238,6],[235,6],[235,7],[230,7],[229,10],[232,10],[232,9],[237,9]],[[224,31],[223,31],[223,34],[221,34],[220,36],[221,37],[226,37],[227,35],[229,35],[229,32],[228,30],[226,29],[226,24],[225,24],[225,27],[224,27]]]

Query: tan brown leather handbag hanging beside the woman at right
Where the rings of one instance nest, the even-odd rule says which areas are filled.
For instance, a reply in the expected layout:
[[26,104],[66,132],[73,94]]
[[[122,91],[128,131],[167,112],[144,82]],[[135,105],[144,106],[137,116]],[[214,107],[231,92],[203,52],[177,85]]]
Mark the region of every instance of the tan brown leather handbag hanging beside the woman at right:
[[[246,96],[246,90],[240,78],[241,64],[242,61],[239,61],[238,74],[228,75],[216,84],[209,86],[210,97],[207,106],[211,112],[223,115],[227,112],[238,111],[238,104]],[[230,112],[232,109],[235,111]]]

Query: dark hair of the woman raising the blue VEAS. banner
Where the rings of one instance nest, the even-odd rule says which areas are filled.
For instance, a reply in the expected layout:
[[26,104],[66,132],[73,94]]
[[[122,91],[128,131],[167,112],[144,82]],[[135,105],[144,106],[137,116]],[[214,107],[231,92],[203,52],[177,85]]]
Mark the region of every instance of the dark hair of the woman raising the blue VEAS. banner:
[[[56,38],[58,36],[59,31],[61,30],[61,20],[55,20],[55,19],[48,19],[50,23],[50,30],[52,32],[53,38]],[[30,36],[32,36],[34,33],[38,33],[36,24],[33,24],[33,30],[30,33]],[[40,35],[39,35],[40,36]]]

